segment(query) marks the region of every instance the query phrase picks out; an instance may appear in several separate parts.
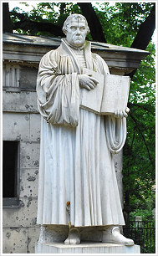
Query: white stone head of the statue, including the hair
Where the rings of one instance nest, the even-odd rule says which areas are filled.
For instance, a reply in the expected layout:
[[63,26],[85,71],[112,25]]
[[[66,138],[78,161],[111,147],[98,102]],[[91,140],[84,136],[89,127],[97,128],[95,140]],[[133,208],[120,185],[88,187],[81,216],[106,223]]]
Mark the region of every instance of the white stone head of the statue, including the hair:
[[81,14],[71,14],[64,22],[63,32],[69,44],[80,47],[84,44],[89,26],[86,18]]

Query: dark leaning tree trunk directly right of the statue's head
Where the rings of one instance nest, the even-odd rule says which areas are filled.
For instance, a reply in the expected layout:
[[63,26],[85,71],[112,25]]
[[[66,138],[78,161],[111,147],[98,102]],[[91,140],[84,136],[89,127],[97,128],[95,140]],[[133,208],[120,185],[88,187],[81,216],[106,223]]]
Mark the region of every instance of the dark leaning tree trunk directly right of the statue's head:
[[94,12],[94,8],[91,3],[78,3],[84,17],[87,19],[89,23],[89,29],[91,36],[94,41],[106,43],[106,39],[104,38],[103,29],[101,24],[99,23],[99,18]]

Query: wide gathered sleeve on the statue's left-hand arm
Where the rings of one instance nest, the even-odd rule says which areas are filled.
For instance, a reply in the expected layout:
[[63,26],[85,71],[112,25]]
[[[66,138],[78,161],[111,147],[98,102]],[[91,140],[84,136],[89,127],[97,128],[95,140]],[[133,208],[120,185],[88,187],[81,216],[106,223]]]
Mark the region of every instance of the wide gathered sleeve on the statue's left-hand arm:
[[48,52],[40,61],[38,110],[48,123],[75,127],[79,123],[79,79],[77,73],[62,74],[57,55]]

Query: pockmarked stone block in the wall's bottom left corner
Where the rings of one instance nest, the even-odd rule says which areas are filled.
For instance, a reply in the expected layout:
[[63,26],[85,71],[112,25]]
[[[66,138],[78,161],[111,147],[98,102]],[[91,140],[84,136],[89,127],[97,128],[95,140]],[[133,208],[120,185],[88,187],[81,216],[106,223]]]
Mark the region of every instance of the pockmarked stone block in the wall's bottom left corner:
[[28,228],[3,228],[3,253],[28,253]]

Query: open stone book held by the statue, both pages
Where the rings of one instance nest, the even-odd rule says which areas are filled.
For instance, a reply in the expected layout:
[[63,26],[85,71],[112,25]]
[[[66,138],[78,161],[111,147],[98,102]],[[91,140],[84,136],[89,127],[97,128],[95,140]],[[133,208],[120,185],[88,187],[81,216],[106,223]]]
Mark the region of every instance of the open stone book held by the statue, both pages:
[[114,115],[115,110],[126,109],[130,90],[129,76],[104,76],[85,68],[83,74],[92,74],[99,84],[94,90],[80,89],[80,108],[99,115]]

